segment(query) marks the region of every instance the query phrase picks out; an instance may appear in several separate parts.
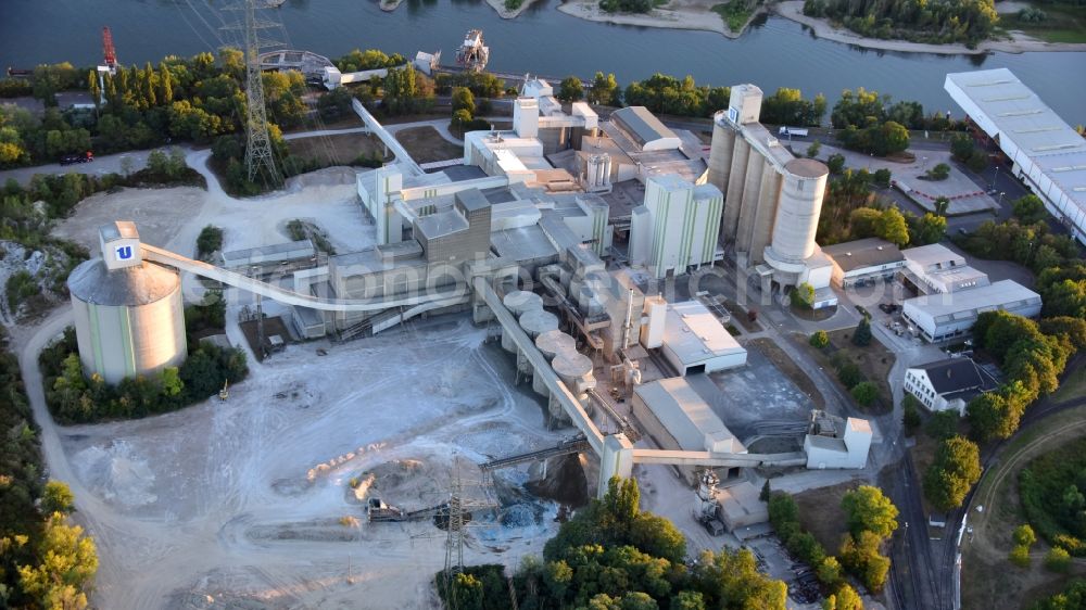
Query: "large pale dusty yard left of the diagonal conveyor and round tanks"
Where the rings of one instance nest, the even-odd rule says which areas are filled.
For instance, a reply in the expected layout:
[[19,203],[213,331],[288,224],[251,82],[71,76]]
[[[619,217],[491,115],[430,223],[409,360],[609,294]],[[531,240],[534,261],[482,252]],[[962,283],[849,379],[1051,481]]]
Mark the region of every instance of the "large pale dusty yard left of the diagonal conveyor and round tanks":
[[[432,607],[428,582],[442,567],[444,534],[429,521],[366,522],[370,485],[356,495],[349,482],[375,474],[371,488],[386,501],[422,508],[447,496],[454,458],[465,480],[472,470],[482,480],[473,462],[554,442],[535,399],[510,389],[513,363],[484,334],[466,320],[435,320],[325,344],[324,357],[318,344],[291,346],[253,365],[225,403],[64,429],[65,454],[111,524],[92,532],[103,560],[94,601]],[[481,514],[467,559],[515,563],[539,552],[555,510],[522,499],[496,518],[512,526]],[[341,524],[344,516],[359,524]]]

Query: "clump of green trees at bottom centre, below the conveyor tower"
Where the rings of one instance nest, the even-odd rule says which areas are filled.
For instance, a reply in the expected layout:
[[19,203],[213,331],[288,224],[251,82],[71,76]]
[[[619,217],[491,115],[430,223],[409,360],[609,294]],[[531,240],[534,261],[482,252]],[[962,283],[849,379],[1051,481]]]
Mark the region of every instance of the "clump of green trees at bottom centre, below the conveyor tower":
[[[682,533],[667,519],[642,511],[640,497],[636,481],[611,479],[602,500],[591,500],[547,541],[542,559],[522,560],[512,576],[517,607],[786,607],[787,587],[759,572],[749,550],[704,551],[695,561],[687,556]],[[468,567],[449,579],[439,572],[434,581],[445,608],[501,610],[510,605],[504,570],[502,565]]]

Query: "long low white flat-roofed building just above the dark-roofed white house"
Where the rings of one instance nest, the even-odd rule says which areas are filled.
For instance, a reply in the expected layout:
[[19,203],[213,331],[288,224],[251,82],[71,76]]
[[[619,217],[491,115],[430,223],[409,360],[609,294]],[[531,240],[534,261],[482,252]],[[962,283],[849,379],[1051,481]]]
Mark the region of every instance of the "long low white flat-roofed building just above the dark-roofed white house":
[[927,341],[938,342],[969,334],[984,312],[1002,310],[1027,318],[1040,314],[1040,295],[1013,280],[989,285],[908,298],[901,315]]

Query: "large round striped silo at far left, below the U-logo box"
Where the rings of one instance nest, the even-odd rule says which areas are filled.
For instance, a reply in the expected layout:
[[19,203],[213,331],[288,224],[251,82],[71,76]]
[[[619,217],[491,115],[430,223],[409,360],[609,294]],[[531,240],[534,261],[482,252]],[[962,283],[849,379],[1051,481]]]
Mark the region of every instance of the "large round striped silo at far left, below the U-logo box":
[[101,258],[68,276],[84,372],[106,383],[178,366],[188,353],[177,272],[143,263],[110,271]]

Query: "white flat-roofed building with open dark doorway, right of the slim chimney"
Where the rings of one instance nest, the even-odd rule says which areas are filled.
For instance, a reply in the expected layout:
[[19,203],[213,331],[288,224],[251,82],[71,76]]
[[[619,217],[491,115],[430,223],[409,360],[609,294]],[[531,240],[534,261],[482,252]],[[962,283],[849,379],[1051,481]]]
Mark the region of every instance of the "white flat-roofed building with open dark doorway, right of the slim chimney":
[[683,376],[746,364],[746,350],[697,301],[668,304],[661,350]]

